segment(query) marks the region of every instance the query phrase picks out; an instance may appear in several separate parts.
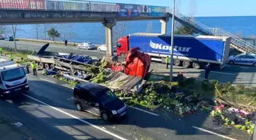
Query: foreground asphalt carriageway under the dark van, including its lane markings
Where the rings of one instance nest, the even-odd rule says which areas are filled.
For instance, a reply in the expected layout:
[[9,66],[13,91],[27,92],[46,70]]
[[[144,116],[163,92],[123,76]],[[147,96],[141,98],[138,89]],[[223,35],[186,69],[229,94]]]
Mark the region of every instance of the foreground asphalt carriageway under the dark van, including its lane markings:
[[[133,139],[133,140],[222,140],[248,139],[235,129],[215,129],[209,114],[178,118],[172,113],[149,113],[129,107],[127,117],[111,123],[75,110],[72,89],[51,76],[28,76],[30,92],[15,100],[0,100],[6,114],[33,129],[45,140],[52,139]],[[199,130],[201,128],[201,130]],[[223,138],[225,137],[225,138]]]

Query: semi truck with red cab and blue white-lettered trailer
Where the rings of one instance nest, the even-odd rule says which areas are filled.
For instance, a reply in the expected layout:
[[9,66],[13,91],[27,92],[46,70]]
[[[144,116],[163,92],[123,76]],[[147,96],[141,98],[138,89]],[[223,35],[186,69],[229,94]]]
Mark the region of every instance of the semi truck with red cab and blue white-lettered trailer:
[[[174,36],[174,65],[201,68],[210,63],[222,68],[229,58],[230,37],[223,36]],[[139,47],[149,54],[152,61],[165,63],[171,54],[171,36],[157,33],[135,33],[118,40],[117,55],[125,56]]]

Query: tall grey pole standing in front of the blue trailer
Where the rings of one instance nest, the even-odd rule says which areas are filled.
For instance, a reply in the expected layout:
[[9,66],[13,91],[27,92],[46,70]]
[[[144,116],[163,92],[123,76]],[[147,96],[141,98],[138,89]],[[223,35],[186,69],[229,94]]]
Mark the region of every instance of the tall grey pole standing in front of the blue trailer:
[[172,8],[172,22],[171,22],[171,66],[170,66],[170,81],[173,79],[173,51],[174,51],[174,14],[175,14],[175,0],[173,0]]

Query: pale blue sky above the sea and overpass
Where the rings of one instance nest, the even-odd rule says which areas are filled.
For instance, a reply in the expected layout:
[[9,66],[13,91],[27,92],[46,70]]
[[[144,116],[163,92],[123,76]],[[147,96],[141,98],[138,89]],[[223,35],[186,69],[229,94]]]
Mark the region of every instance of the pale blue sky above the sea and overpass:
[[[98,0],[98,2],[132,3],[172,7],[172,0]],[[256,16],[256,0],[176,0],[179,12],[196,17]],[[195,6],[190,6],[195,5]]]

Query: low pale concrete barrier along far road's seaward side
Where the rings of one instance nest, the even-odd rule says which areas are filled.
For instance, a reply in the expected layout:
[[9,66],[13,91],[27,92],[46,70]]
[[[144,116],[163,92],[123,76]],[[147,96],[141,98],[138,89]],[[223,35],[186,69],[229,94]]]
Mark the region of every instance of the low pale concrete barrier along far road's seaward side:
[[[64,45],[64,42],[58,42],[58,41],[51,41],[51,40],[40,40],[40,39],[22,39],[22,38],[16,38],[18,41],[25,41],[25,42],[46,42],[46,43],[51,43],[51,44],[59,44],[59,45]],[[68,42],[69,46],[78,46],[79,42]],[[100,45],[95,45],[96,47]]]

